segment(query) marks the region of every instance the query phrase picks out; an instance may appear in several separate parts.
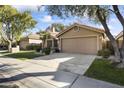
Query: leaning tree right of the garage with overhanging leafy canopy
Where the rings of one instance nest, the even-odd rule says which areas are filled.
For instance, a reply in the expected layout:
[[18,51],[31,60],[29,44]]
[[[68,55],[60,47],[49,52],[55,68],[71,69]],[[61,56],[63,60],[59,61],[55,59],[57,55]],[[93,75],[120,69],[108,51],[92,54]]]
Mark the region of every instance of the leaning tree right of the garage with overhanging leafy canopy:
[[[46,10],[50,15],[58,15],[61,18],[68,17],[68,16],[78,16],[83,18],[85,16],[88,16],[89,19],[92,20],[93,22],[102,24],[105,30],[105,34],[109,38],[114,48],[115,62],[120,62],[124,58],[124,55],[121,55],[117,42],[114,36],[111,34],[107,24],[109,17],[111,16],[112,13],[117,15],[116,13],[118,11],[117,6],[116,6],[116,10],[114,8],[114,12],[111,12],[112,10],[111,6],[99,6],[99,5],[92,5],[92,6],[88,6],[88,5],[56,6],[55,5],[55,6],[46,6]],[[118,14],[118,17],[119,17],[119,14]],[[123,58],[121,58],[121,56],[123,56]]]

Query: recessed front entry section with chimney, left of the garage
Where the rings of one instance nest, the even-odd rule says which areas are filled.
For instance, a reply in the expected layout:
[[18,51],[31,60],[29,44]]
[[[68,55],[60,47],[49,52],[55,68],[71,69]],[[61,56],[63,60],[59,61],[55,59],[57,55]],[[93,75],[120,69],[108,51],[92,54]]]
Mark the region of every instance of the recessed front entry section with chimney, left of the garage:
[[50,48],[57,48],[58,47],[58,38],[56,35],[59,32],[56,32],[55,27],[52,26],[49,29],[46,30],[48,33],[50,33],[50,38],[46,40],[45,42],[45,47],[50,47]]

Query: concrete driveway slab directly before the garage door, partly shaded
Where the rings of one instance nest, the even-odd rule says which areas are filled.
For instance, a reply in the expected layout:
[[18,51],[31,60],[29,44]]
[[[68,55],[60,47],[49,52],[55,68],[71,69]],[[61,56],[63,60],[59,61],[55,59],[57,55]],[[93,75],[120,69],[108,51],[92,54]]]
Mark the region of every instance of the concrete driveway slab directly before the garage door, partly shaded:
[[83,75],[95,57],[95,55],[55,53],[35,58],[30,62]]

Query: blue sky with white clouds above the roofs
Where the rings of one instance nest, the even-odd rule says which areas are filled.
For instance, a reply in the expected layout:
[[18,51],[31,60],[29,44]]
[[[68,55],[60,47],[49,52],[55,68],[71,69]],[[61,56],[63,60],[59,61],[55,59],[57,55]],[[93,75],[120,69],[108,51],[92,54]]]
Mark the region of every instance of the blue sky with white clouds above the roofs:
[[[19,11],[30,10],[32,17],[37,21],[35,28],[31,30],[32,33],[36,33],[40,30],[45,30],[48,26],[52,23],[62,23],[64,25],[70,25],[75,22],[79,22],[84,25],[93,26],[96,28],[103,29],[102,25],[94,24],[88,20],[87,17],[85,18],[78,18],[78,17],[68,17],[66,19],[61,19],[58,16],[50,16],[45,11],[45,6],[41,7],[40,11],[38,11],[37,6],[28,6],[28,5],[13,5]],[[111,30],[111,33],[116,36],[119,32],[122,31],[122,26],[120,22],[117,20],[115,15],[112,15],[109,19],[108,26]]]

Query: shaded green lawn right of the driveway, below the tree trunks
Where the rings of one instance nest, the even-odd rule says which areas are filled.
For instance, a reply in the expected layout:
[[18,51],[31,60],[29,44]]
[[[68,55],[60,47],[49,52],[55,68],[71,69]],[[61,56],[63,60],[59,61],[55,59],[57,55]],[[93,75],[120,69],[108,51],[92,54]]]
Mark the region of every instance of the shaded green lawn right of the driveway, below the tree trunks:
[[124,69],[116,68],[108,60],[95,59],[85,76],[124,85]]

